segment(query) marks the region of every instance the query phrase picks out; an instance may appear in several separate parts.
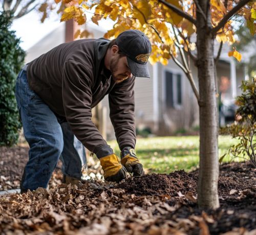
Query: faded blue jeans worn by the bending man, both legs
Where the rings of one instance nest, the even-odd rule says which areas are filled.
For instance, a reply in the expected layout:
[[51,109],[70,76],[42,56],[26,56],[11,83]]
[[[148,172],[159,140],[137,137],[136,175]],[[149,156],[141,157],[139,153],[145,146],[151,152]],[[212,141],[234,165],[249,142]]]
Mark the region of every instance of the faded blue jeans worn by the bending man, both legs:
[[15,89],[24,136],[30,146],[22,187],[25,190],[47,188],[58,159],[62,162],[62,174],[81,179],[81,168],[87,165],[86,152],[69,123],[56,117],[49,106],[29,89],[26,71],[19,72]]

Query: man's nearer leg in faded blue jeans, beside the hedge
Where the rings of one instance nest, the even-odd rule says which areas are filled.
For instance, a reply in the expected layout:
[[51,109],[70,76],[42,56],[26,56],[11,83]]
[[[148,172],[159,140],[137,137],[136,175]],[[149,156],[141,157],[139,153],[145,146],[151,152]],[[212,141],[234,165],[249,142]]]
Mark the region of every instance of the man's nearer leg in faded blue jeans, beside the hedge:
[[22,70],[18,75],[15,96],[30,146],[21,189],[47,188],[63,149],[60,124],[49,106],[29,89],[26,71]]

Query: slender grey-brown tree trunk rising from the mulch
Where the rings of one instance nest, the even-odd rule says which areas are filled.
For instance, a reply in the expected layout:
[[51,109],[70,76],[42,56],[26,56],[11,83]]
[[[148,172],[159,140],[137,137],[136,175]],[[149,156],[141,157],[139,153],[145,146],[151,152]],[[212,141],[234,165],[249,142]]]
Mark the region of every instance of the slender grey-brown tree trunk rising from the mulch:
[[197,50],[200,106],[200,169],[198,179],[199,208],[216,209],[218,199],[218,120],[214,63],[214,36],[209,31],[210,1],[199,1],[207,17],[197,12]]

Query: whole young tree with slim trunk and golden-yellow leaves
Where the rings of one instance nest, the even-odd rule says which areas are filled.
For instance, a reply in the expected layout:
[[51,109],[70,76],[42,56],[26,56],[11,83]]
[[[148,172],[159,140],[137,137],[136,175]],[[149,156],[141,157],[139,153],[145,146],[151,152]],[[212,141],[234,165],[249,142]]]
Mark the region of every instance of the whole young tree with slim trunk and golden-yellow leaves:
[[[255,0],[62,0],[63,3],[68,3],[69,6],[64,10],[61,21],[74,18],[79,25],[85,24],[87,18],[84,12],[91,10],[94,11],[92,21],[95,24],[102,18],[114,20],[115,25],[105,34],[106,38],[115,38],[129,29],[141,30],[152,42],[151,63],[160,61],[166,65],[168,59],[173,58],[184,71],[200,106],[198,204],[200,208],[218,208],[218,111],[215,67],[223,42],[232,44],[235,41],[232,17],[244,17],[247,28],[252,34],[255,33]],[[196,34],[196,44],[191,40],[193,34]],[[221,42],[216,58],[215,38]],[[193,50],[196,53],[193,53]],[[236,50],[229,55],[241,59]],[[199,90],[191,74],[190,60],[198,68]]]

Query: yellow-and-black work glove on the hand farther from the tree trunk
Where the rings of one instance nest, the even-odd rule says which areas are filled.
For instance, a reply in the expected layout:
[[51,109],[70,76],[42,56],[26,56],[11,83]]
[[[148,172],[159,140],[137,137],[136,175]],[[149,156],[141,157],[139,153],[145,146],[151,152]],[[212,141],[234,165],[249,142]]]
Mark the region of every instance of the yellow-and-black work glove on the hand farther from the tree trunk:
[[96,156],[100,160],[106,181],[120,182],[126,179],[127,170],[121,165],[119,158],[113,153],[113,149],[109,145],[100,148]]

